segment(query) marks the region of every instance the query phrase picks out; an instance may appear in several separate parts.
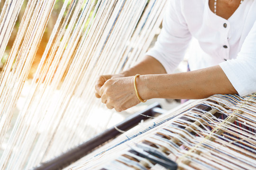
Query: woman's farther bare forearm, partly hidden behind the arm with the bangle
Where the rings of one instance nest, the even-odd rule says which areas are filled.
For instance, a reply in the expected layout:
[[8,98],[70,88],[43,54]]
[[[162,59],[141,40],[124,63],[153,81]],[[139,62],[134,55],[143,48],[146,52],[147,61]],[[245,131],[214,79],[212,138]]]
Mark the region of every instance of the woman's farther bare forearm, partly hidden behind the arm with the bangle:
[[123,76],[134,76],[136,74],[148,75],[148,74],[165,74],[165,68],[155,58],[151,56],[145,56],[142,61],[137,63],[134,67],[129,68],[126,71],[120,73]]

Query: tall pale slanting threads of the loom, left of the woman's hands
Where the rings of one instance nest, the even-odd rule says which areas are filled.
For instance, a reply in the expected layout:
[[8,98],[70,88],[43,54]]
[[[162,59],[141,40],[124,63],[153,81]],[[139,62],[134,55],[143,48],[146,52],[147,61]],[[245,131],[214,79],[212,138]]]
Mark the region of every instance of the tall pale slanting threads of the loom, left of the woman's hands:
[[119,122],[95,98],[94,84],[143,56],[165,0],[0,5],[0,169],[27,170]]

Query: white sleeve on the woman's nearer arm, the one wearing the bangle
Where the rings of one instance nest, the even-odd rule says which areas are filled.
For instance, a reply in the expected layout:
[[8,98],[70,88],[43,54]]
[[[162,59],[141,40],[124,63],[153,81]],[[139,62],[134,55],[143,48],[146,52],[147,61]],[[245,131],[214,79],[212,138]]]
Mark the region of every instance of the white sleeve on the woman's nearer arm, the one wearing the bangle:
[[256,22],[237,58],[220,63],[219,66],[240,96],[256,92]]

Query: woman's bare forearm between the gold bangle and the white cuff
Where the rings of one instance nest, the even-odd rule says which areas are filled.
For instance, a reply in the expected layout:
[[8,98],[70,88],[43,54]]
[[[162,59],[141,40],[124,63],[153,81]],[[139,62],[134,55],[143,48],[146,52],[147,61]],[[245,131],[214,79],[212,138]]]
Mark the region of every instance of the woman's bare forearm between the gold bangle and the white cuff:
[[137,83],[142,99],[201,99],[217,93],[237,93],[219,66],[186,73],[139,76]]

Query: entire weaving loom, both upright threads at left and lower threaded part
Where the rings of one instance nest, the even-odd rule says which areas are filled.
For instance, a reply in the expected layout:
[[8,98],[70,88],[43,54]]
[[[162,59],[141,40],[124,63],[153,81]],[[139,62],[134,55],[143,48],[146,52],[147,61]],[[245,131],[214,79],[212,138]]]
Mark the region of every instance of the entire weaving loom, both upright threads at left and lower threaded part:
[[[0,0],[0,57],[6,58],[0,75],[1,170],[256,169],[255,94],[214,95],[133,127],[155,117],[148,108],[113,128],[115,113],[94,97],[98,75],[119,73],[144,55],[165,3]],[[116,137],[115,127],[133,128]],[[113,136],[94,143],[101,140],[95,135],[110,131]],[[71,158],[89,143],[93,147]]]

